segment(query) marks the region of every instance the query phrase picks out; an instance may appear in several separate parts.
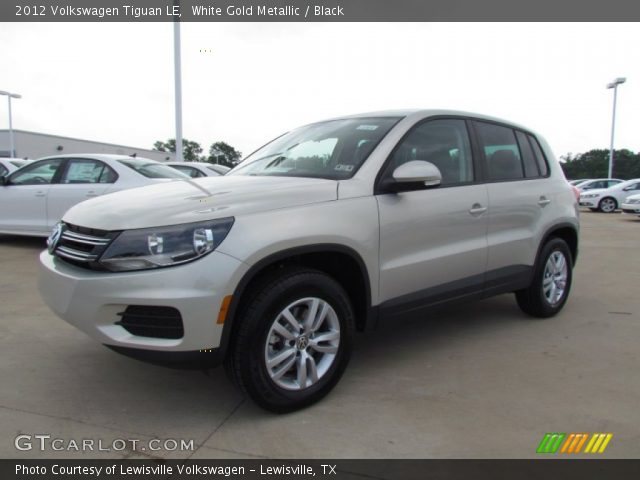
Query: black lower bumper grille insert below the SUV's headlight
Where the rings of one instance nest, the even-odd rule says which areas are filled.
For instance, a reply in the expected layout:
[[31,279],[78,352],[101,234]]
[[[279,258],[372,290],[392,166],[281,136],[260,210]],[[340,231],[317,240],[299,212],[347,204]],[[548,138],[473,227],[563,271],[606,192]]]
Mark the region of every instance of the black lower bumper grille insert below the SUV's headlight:
[[184,336],[180,312],[173,307],[129,305],[116,322],[127,332],[139,337],[171,338]]

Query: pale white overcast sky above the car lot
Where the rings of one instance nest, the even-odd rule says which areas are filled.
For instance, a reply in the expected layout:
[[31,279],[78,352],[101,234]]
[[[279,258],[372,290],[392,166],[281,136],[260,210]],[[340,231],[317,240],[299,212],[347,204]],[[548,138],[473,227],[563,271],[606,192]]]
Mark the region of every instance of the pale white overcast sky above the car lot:
[[[557,155],[640,150],[638,25],[184,23],[184,136],[245,155],[327,117],[453,108],[542,133]],[[171,23],[0,23],[14,128],[151,148],[175,136]],[[0,128],[8,127],[0,97]]]

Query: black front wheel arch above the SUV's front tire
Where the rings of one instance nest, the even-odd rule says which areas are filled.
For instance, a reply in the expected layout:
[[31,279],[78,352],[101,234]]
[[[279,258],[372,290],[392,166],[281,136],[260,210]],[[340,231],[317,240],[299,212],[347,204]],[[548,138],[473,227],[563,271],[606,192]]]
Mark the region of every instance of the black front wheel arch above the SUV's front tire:
[[356,328],[364,331],[376,323],[376,311],[371,304],[371,282],[369,272],[362,257],[352,248],[340,244],[315,244],[288,248],[270,254],[249,268],[235,288],[220,339],[221,358],[227,353],[228,346],[238,326],[236,321],[240,313],[243,298],[251,292],[265,275],[288,265],[314,268],[330,275],[345,289],[351,299]]

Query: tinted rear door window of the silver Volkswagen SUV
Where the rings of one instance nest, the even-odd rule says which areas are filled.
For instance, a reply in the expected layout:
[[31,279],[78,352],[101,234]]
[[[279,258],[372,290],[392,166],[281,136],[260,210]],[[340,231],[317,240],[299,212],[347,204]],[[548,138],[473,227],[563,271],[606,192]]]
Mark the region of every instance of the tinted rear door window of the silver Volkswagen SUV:
[[489,180],[524,178],[520,148],[512,129],[492,123],[476,122],[480,145],[487,161]]

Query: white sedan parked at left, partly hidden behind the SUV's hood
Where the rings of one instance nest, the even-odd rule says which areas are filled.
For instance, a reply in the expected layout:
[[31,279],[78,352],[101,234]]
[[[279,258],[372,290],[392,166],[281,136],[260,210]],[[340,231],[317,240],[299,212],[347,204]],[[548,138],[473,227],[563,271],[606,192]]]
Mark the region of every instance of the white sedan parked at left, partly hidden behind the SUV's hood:
[[125,155],[47,157],[2,177],[0,233],[46,237],[64,213],[92,197],[187,178],[162,163]]

